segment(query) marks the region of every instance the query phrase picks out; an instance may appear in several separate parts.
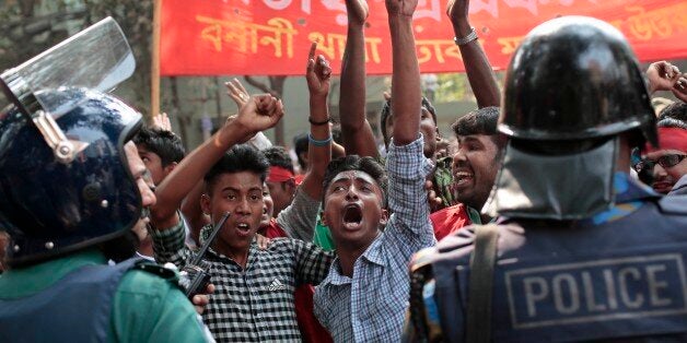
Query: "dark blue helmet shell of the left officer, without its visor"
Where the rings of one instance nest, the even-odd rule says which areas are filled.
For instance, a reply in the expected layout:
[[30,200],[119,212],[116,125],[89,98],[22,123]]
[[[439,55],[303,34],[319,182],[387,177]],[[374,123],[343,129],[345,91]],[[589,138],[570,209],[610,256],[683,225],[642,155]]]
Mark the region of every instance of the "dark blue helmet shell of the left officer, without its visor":
[[113,96],[83,88],[43,93],[79,106],[55,118],[65,135],[85,143],[59,161],[16,107],[0,114],[0,227],[11,264],[34,263],[124,235],[141,216],[141,194],[124,144],[141,115]]

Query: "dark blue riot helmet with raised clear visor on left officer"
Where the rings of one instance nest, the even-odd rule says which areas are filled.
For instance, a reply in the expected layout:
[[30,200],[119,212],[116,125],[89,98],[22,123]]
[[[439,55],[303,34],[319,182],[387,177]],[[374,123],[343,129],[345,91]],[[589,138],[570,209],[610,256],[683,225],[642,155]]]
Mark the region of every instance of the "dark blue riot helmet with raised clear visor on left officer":
[[141,217],[124,144],[142,117],[104,93],[133,67],[106,19],[0,76],[13,103],[0,113],[0,227],[11,236],[11,265],[115,239]]

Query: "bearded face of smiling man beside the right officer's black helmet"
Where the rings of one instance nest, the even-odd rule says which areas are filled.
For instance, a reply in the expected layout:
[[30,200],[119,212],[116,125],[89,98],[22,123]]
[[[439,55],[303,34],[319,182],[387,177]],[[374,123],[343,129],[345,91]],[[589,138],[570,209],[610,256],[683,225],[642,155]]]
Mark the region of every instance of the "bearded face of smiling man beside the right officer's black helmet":
[[457,200],[479,211],[487,202],[499,172],[499,147],[491,135],[458,137],[453,155],[453,185]]

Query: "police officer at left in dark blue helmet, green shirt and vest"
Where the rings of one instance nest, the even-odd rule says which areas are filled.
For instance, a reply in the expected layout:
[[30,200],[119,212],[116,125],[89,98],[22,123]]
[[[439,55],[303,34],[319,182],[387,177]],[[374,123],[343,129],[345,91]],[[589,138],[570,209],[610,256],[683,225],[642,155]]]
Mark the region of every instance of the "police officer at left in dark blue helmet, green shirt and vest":
[[0,113],[0,227],[11,238],[0,341],[212,341],[173,271],[107,263],[133,255],[155,202],[130,141],[141,115],[95,91],[32,93],[35,73],[2,74],[15,106]]

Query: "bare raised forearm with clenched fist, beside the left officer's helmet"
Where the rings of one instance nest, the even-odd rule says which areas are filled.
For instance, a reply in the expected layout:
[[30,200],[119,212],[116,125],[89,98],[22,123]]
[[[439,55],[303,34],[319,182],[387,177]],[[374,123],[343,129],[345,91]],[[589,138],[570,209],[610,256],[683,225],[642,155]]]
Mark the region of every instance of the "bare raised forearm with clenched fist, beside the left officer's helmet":
[[283,115],[281,100],[270,95],[251,97],[240,109],[236,119],[229,121],[208,141],[186,156],[160,184],[155,191],[158,202],[151,209],[151,223],[156,228],[178,224],[176,211],[196,182],[231,146],[243,143],[256,132],[273,127]]

